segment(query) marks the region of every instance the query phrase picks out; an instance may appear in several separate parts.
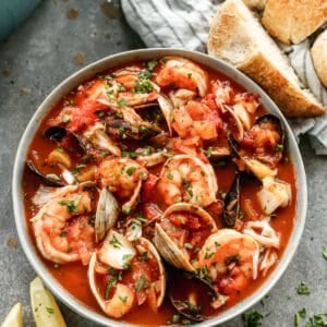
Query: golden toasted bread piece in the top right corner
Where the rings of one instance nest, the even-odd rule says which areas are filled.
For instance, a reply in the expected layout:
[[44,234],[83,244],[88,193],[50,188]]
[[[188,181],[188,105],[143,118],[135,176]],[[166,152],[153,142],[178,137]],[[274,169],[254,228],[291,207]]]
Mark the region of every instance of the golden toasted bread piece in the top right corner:
[[263,24],[280,41],[300,44],[327,21],[326,0],[268,0]]

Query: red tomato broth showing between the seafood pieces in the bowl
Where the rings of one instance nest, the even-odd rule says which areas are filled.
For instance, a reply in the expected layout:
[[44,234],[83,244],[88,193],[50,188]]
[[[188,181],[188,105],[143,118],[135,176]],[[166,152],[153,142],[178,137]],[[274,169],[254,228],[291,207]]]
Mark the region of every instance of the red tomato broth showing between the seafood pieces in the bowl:
[[[159,70],[162,69],[162,66],[166,64],[166,62],[164,61],[164,63],[159,63],[154,72],[153,72],[153,76],[150,78],[155,80],[155,75],[158,74]],[[136,68],[140,68],[142,70],[145,70],[146,68],[146,63],[143,62],[134,62],[133,64],[129,64],[129,65],[133,65]],[[120,68],[121,69],[121,68]],[[235,84],[233,81],[230,81],[228,77],[223,76],[220,73],[217,73],[208,68],[205,66],[201,66],[201,69],[203,69],[204,71],[207,72],[208,74],[208,90],[206,92],[206,97],[208,96],[208,94],[210,94],[210,89],[211,89],[211,84],[215,81],[221,81],[225,83],[229,83],[230,87],[232,88],[234,95],[235,94],[242,94],[244,93],[244,88],[238,84]],[[102,76],[105,76],[106,74],[112,74],[112,72],[114,72],[116,70],[111,70],[110,72],[105,72],[102,74]],[[77,150],[69,150],[69,145],[58,142],[53,142],[50,141],[49,138],[47,138],[45,136],[45,131],[49,128],[49,125],[55,125],[56,121],[58,121],[58,117],[59,114],[61,114],[63,108],[68,108],[69,106],[71,107],[78,107],[82,108],[83,107],[83,101],[85,101],[85,99],[87,98],[87,96],[89,96],[89,93],[94,92],[94,84],[98,83],[98,81],[102,81],[102,76],[95,76],[94,78],[81,84],[82,86],[80,86],[76,90],[74,90],[73,93],[68,94],[57,106],[55,106],[49,113],[45,117],[45,119],[41,121],[38,131],[36,132],[31,145],[29,145],[29,149],[28,149],[28,155],[27,155],[27,160],[33,159],[34,165],[41,171],[41,173],[45,174],[49,174],[49,173],[55,173],[56,175],[60,174],[60,167],[58,167],[58,165],[53,165],[53,164],[49,164],[49,154],[58,148],[58,146],[62,147],[65,153],[68,153],[69,157],[70,157],[70,167],[69,170],[72,171],[73,169],[75,169],[75,177],[78,178],[78,175],[83,172],[86,171],[87,169],[89,169],[90,167],[94,167],[94,172],[90,178],[90,180],[95,181],[98,183],[98,186],[101,185],[101,181],[99,181],[99,179],[97,179],[97,170],[99,165],[101,164],[102,160],[106,160],[106,158],[108,159],[108,157],[110,157],[110,154],[108,152],[99,152],[97,149],[94,150],[94,146],[89,147],[87,149],[87,154],[92,154],[95,155],[96,159],[95,160],[89,160],[89,161],[83,161],[83,155],[85,156],[85,154],[78,154]],[[144,81],[144,80],[142,80]],[[141,83],[142,83],[141,81]],[[109,82],[110,83],[110,80]],[[126,82],[124,82],[126,83]],[[185,82],[186,83],[186,82]],[[184,84],[182,84],[184,85]],[[169,85],[169,86],[162,86],[161,90],[164,89],[164,92],[166,94],[168,94],[168,92],[170,90],[170,87],[172,88],[179,88],[179,85]],[[185,86],[183,86],[185,87]],[[192,86],[191,86],[192,88]],[[198,89],[193,89],[194,92],[198,92]],[[195,101],[198,101],[198,95],[196,95],[194,97]],[[124,105],[124,104],[122,104]],[[68,129],[74,131],[74,133],[83,133],[83,129],[87,128],[87,124],[93,124],[96,121],[101,121],[102,119],[102,113],[99,114],[99,112],[107,112],[108,106],[106,105],[99,105],[98,107],[94,107],[88,109],[88,111],[84,112],[84,120],[83,114],[78,117],[78,114],[75,114],[76,117],[74,118],[75,121],[73,122],[68,122],[68,123],[63,123],[60,122],[62,125],[66,126]],[[82,110],[82,109],[81,109]],[[83,110],[86,110],[85,108]],[[144,109],[137,109],[137,110],[144,110]],[[214,109],[213,109],[214,110]],[[218,110],[218,109],[216,109]],[[94,112],[98,111],[98,116],[96,116]],[[138,112],[138,111],[137,111]],[[250,113],[250,118],[251,118],[251,124],[253,125],[255,122],[255,119],[262,114],[264,114],[266,112],[266,110],[259,106],[258,109],[255,111],[255,113]],[[78,112],[77,112],[78,113]],[[221,112],[218,110],[218,118],[222,121],[222,123],[220,124],[219,128],[219,132],[218,132],[218,136],[215,140],[210,140],[209,142],[201,140],[199,143],[203,147],[205,147],[205,145],[207,146],[206,148],[206,154],[208,153],[208,144],[210,146],[223,146],[227,145],[227,138],[226,138],[226,130],[228,128],[227,122],[225,121],[223,114],[221,114]],[[119,116],[119,118],[121,118]],[[82,120],[81,120],[82,119]],[[167,134],[167,125],[165,120],[161,118],[159,120],[158,125],[162,129],[162,131],[165,131],[165,133]],[[218,129],[218,128],[217,128]],[[222,135],[222,136],[221,136]],[[173,130],[173,136],[177,137],[177,131]],[[190,135],[189,135],[190,136]],[[184,138],[189,137],[187,135],[184,136]],[[194,135],[192,135],[194,136]],[[191,136],[190,136],[191,137]],[[65,140],[64,142],[70,142],[68,140]],[[144,138],[144,140],[117,140],[117,144],[124,148],[128,149],[128,152],[133,153],[135,150],[136,147],[138,146],[144,146],[147,145],[148,138]],[[181,150],[180,153],[182,153],[183,150]],[[178,149],[173,149],[173,155],[178,155],[180,154]],[[203,158],[203,154],[199,155],[199,157]],[[204,160],[210,160],[211,158],[206,158]],[[213,217],[216,221],[216,225],[218,227],[218,229],[223,228],[223,220],[222,220],[222,206],[223,206],[223,195],[229,191],[232,181],[234,179],[235,172],[237,172],[237,166],[234,164],[234,161],[230,158],[222,158],[219,165],[215,166],[215,174],[218,181],[218,185],[219,185],[219,193],[216,194],[217,196],[217,203],[216,203],[216,207],[211,207],[210,206],[207,207],[207,211],[213,214]],[[221,164],[222,162],[222,164]],[[76,167],[81,166],[80,169]],[[271,220],[270,220],[270,226],[275,229],[275,231],[277,232],[277,234],[279,235],[280,239],[280,246],[278,250],[276,250],[276,253],[278,255],[278,258],[280,259],[280,257],[282,256],[282,253],[288,244],[288,241],[290,239],[290,234],[292,232],[293,229],[293,223],[294,223],[294,217],[295,217],[295,202],[296,202],[296,190],[295,190],[295,177],[294,177],[294,167],[292,164],[292,158],[289,157],[288,150],[286,149],[283,152],[283,159],[278,164],[277,166],[278,168],[278,178],[287,183],[290,184],[291,186],[291,193],[292,193],[292,198],[289,203],[289,205],[287,207],[283,208],[278,208],[274,215],[271,216]],[[156,165],[155,167],[148,168],[148,171],[155,175],[155,177],[159,177],[160,175],[160,170],[162,169],[162,164]],[[40,184],[44,183],[44,180],[40,179],[38,175],[35,174],[35,172],[32,172],[27,166],[25,168],[24,171],[24,175],[23,175],[23,192],[24,192],[24,198],[25,198],[25,213],[26,213],[26,221],[27,221],[27,226],[29,228],[29,234],[31,234],[31,239],[34,240],[35,242],[35,235],[34,235],[34,230],[33,230],[33,223],[31,222],[31,218],[34,217],[38,210],[39,207],[37,207],[36,205],[34,205],[33,203],[33,196],[35,195],[36,191],[38,190],[38,187],[40,186]],[[156,184],[156,183],[155,183]],[[262,189],[261,183],[258,183],[257,181],[253,181],[251,179],[245,179],[244,181],[242,181],[241,183],[241,193],[240,193],[240,206],[241,209],[244,210],[244,207],[246,206],[246,204],[249,204],[249,202],[251,203],[251,208],[257,213],[258,215],[262,214],[262,208],[258,204],[258,199],[257,199],[257,192]],[[145,187],[145,186],[144,186]],[[148,194],[145,194],[145,191],[143,190],[142,195],[141,195],[141,202],[137,204],[135,211],[137,210],[138,213],[143,213],[145,211],[144,206],[145,204],[155,204],[158,206],[158,208],[160,210],[165,210],[165,208],[168,207],[168,204],[166,204],[165,202],[162,203],[162,196],[158,195],[158,192],[156,192],[156,189],[150,189],[152,192],[149,192]],[[146,198],[146,201],[144,201],[144,198]],[[142,203],[143,202],[143,203]],[[120,205],[122,204],[122,201],[119,199]],[[124,219],[124,216],[120,215],[119,219]],[[241,226],[243,226],[246,221],[252,220],[253,217],[249,217],[246,210],[245,210],[245,215],[244,217],[242,217],[242,219],[239,221],[239,223],[241,223]],[[242,230],[242,227],[240,228],[240,230]],[[145,235],[152,240],[153,237],[153,228],[148,228],[145,230]],[[99,247],[101,244],[97,244],[97,247]],[[36,242],[35,242],[35,246],[36,246]],[[36,246],[37,249],[37,246]],[[82,265],[81,262],[74,262],[74,263],[66,263],[66,264],[58,264],[56,262],[51,262],[49,259],[43,258],[41,254],[40,258],[43,259],[44,264],[47,266],[49,272],[63,286],[63,288],[70,292],[73,296],[75,296],[76,299],[78,299],[81,302],[83,302],[86,306],[93,308],[94,311],[98,312],[98,313],[102,313],[102,311],[100,310],[98,303],[96,302],[89,284],[88,284],[88,279],[87,279],[87,265]],[[235,303],[242,301],[243,299],[245,299],[246,296],[251,295],[253,292],[255,292],[261,284],[267,279],[269,278],[269,275],[271,274],[271,271],[274,270],[274,268],[278,265],[278,262],[270,268],[268,269],[267,274],[265,276],[263,276],[263,274],[258,274],[258,277],[256,278],[256,280],[251,280],[251,282],[249,282],[246,284],[246,287],[235,293],[233,293],[232,295],[230,295],[229,300],[226,302],[225,305],[222,305],[221,307],[214,310],[210,307],[209,305],[209,300],[207,299],[205,303],[203,303],[203,305],[205,306],[205,314],[208,316],[215,316],[218,315],[219,313],[221,313],[222,311],[233,306]],[[181,272],[182,274],[182,272]],[[181,275],[182,276],[182,275]],[[169,278],[169,276],[168,276]],[[173,278],[171,278],[172,280]],[[100,279],[99,279],[100,280]],[[174,281],[170,281],[169,288],[178,288],[179,290],[181,290],[181,292],[185,289],[185,288],[193,288],[193,292],[196,292],[196,284],[194,283],[192,286],[192,281],[187,281],[187,284],[182,282],[182,277],[178,277],[177,280],[180,280],[180,282],[174,282]],[[98,281],[99,283],[101,283],[101,281]],[[106,284],[101,284],[101,288],[105,288]],[[202,292],[201,290],[198,290],[199,292]],[[205,298],[205,295],[202,295],[202,298]],[[172,320],[172,316],[177,314],[177,311],[173,308],[173,306],[170,304],[168,295],[166,295],[165,301],[162,303],[162,305],[157,310],[157,312],[154,312],[149,308],[147,302],[145,302],[142,305],[135,305],[128,314],[123,315],[120,319],[122,322],[129,323],[129,324],[135,324],[135,325],[165,325],[165,324],[169,324]],[[104,313],[105,315],[105,313]],[[186,319],[186,318],[185,318]],[[150,322],[150,323],[149,323]],[[185,323],[185,320],[183,322],[183,317],[180,318],[179,323]]]

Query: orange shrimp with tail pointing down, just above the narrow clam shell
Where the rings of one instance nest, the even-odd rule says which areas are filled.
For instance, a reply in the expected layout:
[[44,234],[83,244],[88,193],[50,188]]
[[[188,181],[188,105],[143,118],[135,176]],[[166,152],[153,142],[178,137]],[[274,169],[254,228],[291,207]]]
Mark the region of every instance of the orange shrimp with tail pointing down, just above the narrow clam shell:
[[129,214],[136,205],[142,181],[148,178],[148,171],[129,158],[107,158],[98,169],[98,179],[102,186],[119,198],[126,199],[122,210]]

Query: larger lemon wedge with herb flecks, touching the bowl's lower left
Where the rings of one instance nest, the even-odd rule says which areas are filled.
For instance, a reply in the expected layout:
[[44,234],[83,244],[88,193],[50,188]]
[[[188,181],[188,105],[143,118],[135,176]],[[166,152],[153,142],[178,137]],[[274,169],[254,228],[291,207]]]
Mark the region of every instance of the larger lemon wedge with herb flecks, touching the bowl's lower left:
[[29,295],[36,327],[66,327],[53,295],[39,277],[31,282]]

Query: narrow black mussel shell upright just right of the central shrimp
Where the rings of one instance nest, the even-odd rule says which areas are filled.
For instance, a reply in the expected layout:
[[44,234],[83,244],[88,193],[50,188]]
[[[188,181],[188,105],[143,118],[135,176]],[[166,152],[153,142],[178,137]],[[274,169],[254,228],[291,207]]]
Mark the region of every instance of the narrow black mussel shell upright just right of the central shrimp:
[[240,218],[241,173],[237,173],[229,192],[223,199],[222,220],[226,227],[232,228]]

